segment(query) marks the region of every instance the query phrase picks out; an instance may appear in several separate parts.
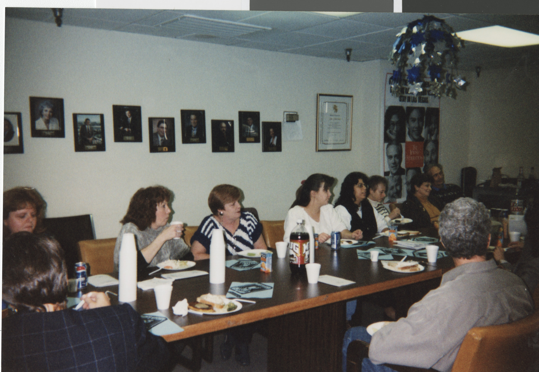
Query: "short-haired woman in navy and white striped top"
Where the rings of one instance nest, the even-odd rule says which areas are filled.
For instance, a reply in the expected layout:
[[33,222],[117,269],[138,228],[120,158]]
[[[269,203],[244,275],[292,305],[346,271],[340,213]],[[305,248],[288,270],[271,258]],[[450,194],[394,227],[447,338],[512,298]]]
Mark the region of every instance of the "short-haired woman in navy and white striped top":
[[236,255],[242,250],[267,249],[262,238],[262,225],[253,214],[241,212],[239,188],[232,185],[213,187],[208,197],[211,215],[205,217],[191,238],[191,252],[195,260],[210,258],[210,242],[214,229],[223,229],[226,254]]

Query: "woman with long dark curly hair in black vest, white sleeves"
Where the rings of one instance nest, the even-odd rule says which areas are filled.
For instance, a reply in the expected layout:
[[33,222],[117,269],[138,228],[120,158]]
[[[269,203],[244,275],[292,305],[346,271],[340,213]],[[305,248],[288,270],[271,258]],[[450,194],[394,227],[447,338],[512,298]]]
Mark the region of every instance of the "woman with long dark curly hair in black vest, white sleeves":
[[346,224],[350,231],[360,229],[363,238],[371,240],[376,233],[388,229],[376,209],[372,208],[367,199],[369,177],[361,172],[352,172],[342,181],[341,194],[335,202],[335,212]]

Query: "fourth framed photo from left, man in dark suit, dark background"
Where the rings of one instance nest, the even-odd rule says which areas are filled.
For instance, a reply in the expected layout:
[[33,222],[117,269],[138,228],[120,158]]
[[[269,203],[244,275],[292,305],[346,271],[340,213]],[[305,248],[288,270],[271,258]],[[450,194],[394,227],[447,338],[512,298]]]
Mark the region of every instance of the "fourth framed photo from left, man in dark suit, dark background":
[[142,142],[140,106],[112,105],[114,142]]

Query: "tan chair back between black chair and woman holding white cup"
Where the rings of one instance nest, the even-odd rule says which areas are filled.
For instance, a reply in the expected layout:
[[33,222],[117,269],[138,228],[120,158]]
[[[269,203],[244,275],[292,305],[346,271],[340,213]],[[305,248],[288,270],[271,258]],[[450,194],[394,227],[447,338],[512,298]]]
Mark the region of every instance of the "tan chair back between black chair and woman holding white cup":
[[82,262],[90,265],[90,274],[106,274],[114,271],[114,245],[116,238],[81,240],[79,252]]

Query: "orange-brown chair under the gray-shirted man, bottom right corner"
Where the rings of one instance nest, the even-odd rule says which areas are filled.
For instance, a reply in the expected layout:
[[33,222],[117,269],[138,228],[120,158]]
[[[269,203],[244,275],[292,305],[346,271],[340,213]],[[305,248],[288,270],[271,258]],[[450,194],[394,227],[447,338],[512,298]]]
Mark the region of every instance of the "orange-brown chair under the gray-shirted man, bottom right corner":
[[[474,327],[460,345],[452,372],[524,372],[539,358],[534,348],[539,336],[539,287],[534,292],[535,311],[509,324]],[[535,338],[535,342],[533,339]],[[360,372],[361,362],[369,355],[367,343],[356,340],[347,352],[347,372]],[[385,364],[398,372],[434,371]]]

